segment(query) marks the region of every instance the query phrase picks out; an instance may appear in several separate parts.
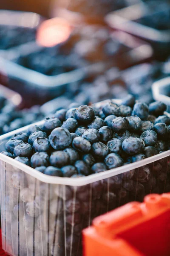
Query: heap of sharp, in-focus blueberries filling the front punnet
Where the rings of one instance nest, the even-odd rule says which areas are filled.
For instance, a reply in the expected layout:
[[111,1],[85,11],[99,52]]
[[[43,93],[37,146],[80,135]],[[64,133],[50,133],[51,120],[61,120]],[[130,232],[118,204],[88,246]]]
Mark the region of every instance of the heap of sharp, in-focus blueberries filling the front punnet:
[[162,102],[129,105],[72,104],[40,127],[31,125],[25,133],[16,134],[2,153],[46,175],[82,177],[168,150],[166,106]]

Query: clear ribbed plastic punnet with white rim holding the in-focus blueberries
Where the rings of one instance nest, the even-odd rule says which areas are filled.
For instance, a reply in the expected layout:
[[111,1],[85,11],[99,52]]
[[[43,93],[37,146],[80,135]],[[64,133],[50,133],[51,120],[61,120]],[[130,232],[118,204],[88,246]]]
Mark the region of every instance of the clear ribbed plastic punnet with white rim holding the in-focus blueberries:
[[[1,136],[0,150],[27,128]],[[96,216],[163,192],[170,192],[170,150],[79,178],[47,176],[0,154],[3,249],[12,256],[81,256],[81,231]]]

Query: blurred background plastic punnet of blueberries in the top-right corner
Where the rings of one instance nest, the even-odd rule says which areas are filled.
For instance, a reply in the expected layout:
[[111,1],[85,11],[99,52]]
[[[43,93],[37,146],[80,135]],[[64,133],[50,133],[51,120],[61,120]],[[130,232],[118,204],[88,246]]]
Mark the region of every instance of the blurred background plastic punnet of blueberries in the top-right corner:
[[[160,15],[162,20],[167,18],[166,24],[169,24],[170,5],[168,7],[162,1],[148,1],[147,4],[139,3],[111,12],[105,20],[114,29],[128,32],[150,42],[155,57],[158,60],[164,60],[170,54],[170,29],[159,30],[149,25],[149,20],[154,20]],[[144,19],[147,19],[147,25],[144,25]]]

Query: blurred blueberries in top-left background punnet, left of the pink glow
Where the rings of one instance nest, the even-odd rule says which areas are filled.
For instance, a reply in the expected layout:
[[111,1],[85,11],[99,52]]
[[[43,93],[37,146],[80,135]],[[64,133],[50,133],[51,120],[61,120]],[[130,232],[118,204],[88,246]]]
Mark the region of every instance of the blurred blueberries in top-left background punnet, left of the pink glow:
[[36,30],[13,26],[0,26],[0,49],[5,50],[35,40]]

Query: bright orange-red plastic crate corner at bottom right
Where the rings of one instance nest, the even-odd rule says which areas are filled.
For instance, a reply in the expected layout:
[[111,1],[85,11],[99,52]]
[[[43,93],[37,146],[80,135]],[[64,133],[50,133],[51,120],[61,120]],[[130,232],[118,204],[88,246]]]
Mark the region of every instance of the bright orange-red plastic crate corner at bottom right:
[[84,256],[170,256],[170,193],[95,218],[83,245]]

